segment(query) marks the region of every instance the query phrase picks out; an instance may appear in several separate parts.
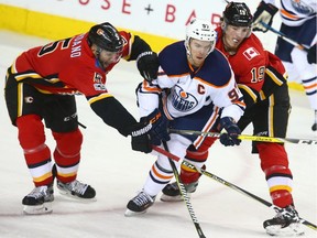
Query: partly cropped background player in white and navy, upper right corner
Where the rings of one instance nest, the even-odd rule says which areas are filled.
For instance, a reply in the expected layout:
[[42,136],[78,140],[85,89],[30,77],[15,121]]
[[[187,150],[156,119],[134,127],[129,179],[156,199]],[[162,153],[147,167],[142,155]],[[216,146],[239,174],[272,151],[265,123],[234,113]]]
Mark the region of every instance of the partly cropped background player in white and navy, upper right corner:
[[275,54],[288,72],[288,82],[299,82],[305,89],[315,111],[313,131],[317,130],[316,9],[316,0],[263,0],[254,13],[253,22],[253,31],[266,32],[267,29],[261,22],[271,25],[273,17],[280,10],[280,31],[309,48],[308,52],[299,50],[278,37]]

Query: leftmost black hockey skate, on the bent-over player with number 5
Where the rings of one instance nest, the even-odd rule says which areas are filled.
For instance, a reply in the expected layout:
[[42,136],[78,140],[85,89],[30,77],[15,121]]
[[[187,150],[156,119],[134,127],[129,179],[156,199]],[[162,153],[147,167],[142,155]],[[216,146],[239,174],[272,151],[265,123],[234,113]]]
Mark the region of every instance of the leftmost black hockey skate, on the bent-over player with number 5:
[[52,213],[52,202],[54,201],[53,184],[50,186],[35,187],[23,199],[23,213],[26,215],[40,215]]

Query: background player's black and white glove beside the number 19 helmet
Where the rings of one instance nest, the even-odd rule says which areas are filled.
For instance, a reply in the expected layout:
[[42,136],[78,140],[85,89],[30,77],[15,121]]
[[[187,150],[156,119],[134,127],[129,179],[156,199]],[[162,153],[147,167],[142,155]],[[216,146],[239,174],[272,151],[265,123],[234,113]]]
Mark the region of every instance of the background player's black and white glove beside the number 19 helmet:
[[266,32],[267,29],[262,25],[261,22],[271,26],[273,22],[273,17],[277,11],[278,9],[275,6],[261,1],[256,8],[256,11],[254,12],[252,24],[253,31]]

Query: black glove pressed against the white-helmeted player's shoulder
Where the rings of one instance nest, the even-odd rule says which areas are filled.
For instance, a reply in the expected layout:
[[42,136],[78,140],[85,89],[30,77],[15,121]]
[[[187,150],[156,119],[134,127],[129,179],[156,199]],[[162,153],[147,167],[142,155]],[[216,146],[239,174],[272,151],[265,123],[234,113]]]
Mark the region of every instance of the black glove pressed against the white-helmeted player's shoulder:
[[136,58],[136,66],[145,80],[151,82],[157,78],[160,63],[155,52],[147,51],[141,53]]

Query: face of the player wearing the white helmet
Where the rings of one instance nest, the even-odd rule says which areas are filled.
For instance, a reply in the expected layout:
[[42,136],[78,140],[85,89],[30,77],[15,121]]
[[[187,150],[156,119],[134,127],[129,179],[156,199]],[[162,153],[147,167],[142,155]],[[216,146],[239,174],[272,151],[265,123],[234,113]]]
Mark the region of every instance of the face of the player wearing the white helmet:
[[199,67],[210,53],[211,44],[212,43],[209,41],[199,41],[196,39],[190,40],[189,42],[190,54],[188,55],[189,63],[195,67]]

